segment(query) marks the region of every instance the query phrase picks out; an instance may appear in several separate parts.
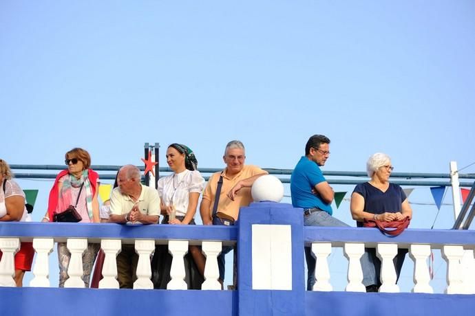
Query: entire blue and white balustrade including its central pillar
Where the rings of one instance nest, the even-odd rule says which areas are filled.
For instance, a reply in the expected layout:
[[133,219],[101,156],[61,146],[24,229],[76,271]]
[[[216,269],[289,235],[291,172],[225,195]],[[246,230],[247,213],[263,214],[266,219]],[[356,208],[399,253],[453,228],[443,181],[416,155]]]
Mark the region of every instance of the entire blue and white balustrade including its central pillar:
[[[120,308],[129,306],[128,301],[122,302],[124,297],[145,300],[148,304],[134,305],[134,308],[140,308],[140,313],[156,312],[154,305],[160,301],[160,304],[168,304],[167,315],[315,315],[315,311],[321,315],[362,315],[366,312],[361,306],[369,306],[367,304],[377,306],[374,308],[378,311],[386,311],[384,306],[387,300],[379,300],[383,297],[387,299],[386,293],[392,293],[391,302],[413,308],[416,314],[408,315],[419,315],[418,306],[424,306],[424,312],[440,312],[441,315],[452,312],[464,314],[473,310],[475,232],[471,230],[406,229],[397,237],[387,237],[374,228],[304,227],[302,210],[284,203],[253,203],[243,207],[240,221],[234,227],[0,223],[0,249],[3,252],[0,261],[1,286],[14,286],[14,253],[21,241],[32,241],[36,250],[32,271],[34,278],[29,284],[30,289],[1,287],[3,296],[0,295],[0,302],[2,306],[8,304],[8,300],[21,304],[28,297],[28,300],[35,302],[25,307],[30,312],[52,313],[50,306],[43,303],[45,295],[61,296],[62,300],[58,302],[63,308],[70,306],[72,295],[81,295],[87,300],[101,297],[101,302],[116,304]],[[67,242],[72,253],[68,271],[70,279],[65,284],[69,289],[54,289],[50,282],[48,257],[54,242]],[[104,278],[99,284],[99,288],[104,290],[76,289],[84,286],[81,280],[81,253],[87,242],[100,243],[105,252]],[[183,281],[183,256],[189,245],[200,245],[207,256],[203,290],[221,289],[217,280],[217,256],[223,246],[237,245],[237,290],[115,290],[118,288],[116,255],[124,244],[135,245],[139,255],[138,280],[134,289],[153,289],[150,280],[151,253],[155,245],[168,245],[173,261],[167,289],[175,290],[187,289]],[[317,260],[313,291],[304,291],[304,245],[311,247]],[[358,293],[366,290],[362,284],[360,264],[365,247],[377,249],[381,258],[382,285],[379,291],[383,293]],[[333,291],[328,256],[335,248],[343,249],[343,256],[348,262],[345,291]],[[398,248],[409,251],[405,264],[410,264],[410,259],[414,262],[413,293],[398,293],[400,289],[392,262]],[[440,250],[443,260],[447,262],[445,293],[450,295],[432,294],[435,291],[427,261],[433,249]],[[220,303],[210,304],[214,299]],[[182,304],[183,300],[192,304]],[[5,306],[10,311],[18,311],[17,305]],[[76,306],[78,308],[72,311],[72,315],[87,313],[81,304]],[[101,308],[107,313],[104,306]],[[53,311],[52,315],[61,315],[62,311]],[[389,314],[389,311],[381,315]],[[125,310],[123,313],[126,313]]]

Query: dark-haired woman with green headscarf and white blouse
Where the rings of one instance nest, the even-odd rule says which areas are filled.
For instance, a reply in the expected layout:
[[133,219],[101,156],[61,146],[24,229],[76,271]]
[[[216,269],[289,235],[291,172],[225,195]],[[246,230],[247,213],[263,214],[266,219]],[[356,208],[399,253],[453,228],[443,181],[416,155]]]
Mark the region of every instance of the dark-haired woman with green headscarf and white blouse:
[[[193,150],[182,144],[171,144],[167,148],[167,163],[172,174],[158,180],[160,209],[164,215],[162,224],[195,225],[194,216],[198,199],[204,189],[204,179],[197,169]],[[190,256],[191,254],[191,256]],[[188,289],[201,289],[204,281],[204,258],[197,246],[190,246],[185,260],[185,282]],[[171,256],[167,246],[158,246],[154,259],[154,287],[167,289],[170,279]],[[154,278],[155,277],[155,278]]]

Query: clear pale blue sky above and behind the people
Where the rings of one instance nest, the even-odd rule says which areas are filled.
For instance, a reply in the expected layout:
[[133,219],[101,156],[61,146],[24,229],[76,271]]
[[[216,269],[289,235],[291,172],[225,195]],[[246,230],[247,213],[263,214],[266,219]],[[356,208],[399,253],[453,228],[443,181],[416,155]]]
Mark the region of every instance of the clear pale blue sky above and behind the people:
[[[321,133],[324,170],[382,151],[398,172],[448,172],[475,161],[474,16],[469,0],[4,0],[0,157],[61,164],[80,146],[93,164],[140,164],[145,142],[180,142],[220,168],[240,139],[247,163],[293,168]],[[40,189],[39,219],[51,182],[20,183]],[[436,207],[413,208],[430,227]],[[347,201],[335,216],[352,224]]]

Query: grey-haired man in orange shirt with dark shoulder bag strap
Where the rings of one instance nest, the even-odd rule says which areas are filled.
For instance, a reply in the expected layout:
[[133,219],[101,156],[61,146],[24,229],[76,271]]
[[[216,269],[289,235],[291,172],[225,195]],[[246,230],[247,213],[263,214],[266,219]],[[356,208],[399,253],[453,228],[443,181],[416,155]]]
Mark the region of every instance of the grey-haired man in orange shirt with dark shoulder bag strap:
[[[246,152],[244,145],[238,140],[226,145],[222,159],[226,168],[213,174],[204,189],[200,205],[203,225],[234,225],[239,217],[240,207],[248,206],[253,201],[251,186],[254,181],[268,174],[257,166],[244,166]],[[231,249],[233,247],[223,247],[218,256],[220,282],[224,281],[224,256]]]

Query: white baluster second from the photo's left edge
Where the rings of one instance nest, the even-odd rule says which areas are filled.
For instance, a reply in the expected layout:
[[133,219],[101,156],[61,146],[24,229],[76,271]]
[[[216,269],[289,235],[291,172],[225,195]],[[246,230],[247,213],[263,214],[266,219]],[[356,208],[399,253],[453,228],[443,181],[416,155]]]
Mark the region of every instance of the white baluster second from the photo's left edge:
[[48,260],[48,256],[53,251],[53,245],[53,238],[33,238],[36,260],[33,268],[34,278],[30,281],[30,286],[50,287],[50,260]]

